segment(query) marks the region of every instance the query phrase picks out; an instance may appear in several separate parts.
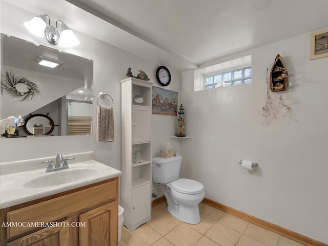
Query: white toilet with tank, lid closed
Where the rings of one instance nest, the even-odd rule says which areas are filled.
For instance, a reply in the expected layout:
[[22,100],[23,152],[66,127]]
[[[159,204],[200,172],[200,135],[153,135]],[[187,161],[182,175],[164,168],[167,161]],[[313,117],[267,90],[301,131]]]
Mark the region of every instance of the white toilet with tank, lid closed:
[[152,174],[155,183],[166,184],[165,197],[168,211],[175,218],[189,223],[200,222],[198,203],[204,198],[204,186],[195,180],[179,179],[181,156],[152,158]]

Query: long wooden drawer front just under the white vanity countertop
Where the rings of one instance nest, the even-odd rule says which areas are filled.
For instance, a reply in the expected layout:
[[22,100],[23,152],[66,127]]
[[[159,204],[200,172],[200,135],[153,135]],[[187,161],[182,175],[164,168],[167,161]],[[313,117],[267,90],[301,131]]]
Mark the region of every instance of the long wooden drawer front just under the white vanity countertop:
[[[116,199],[117,179],[99,184],[68,195],[40,202],[22,209],[7,213],[8,223],[25,222],[54,222],[62,221],[72,214],[87,211],[97,205],[105,204]],[[19,223],[18,223],[19,224]],[[7,238],[35,229],[30,226],[7,228]]]

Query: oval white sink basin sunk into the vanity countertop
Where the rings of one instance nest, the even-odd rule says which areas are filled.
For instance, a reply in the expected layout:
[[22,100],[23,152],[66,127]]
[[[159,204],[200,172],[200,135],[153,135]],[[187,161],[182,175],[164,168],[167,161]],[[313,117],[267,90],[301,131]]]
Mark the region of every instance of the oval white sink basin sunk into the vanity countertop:
[[55,171],[47,173],[46,175],[34,178],[24,183],[23,186],[27,188],[42,188],[50,187],[59,184],[66,184],[86,178],[90,178],[97,174],[94,168],[74,168]]

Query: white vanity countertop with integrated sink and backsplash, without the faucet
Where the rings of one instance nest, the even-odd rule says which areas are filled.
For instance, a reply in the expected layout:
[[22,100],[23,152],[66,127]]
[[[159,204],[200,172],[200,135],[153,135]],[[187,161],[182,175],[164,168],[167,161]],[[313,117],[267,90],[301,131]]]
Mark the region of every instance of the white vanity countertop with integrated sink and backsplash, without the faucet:
[[65,155],[74,157],[68,169],[46,173],[40,161],[54,160],[56,156],[0,163],[0,209],[38,198],[73,190],[107,179],[121,172],[93,159],[93,152]]

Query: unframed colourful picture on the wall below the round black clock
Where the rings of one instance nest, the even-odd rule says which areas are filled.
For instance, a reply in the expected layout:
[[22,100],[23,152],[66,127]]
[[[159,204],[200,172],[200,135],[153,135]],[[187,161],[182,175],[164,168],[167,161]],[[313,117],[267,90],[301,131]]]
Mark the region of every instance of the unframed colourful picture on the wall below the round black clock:
[[152,113],[176,116],[178,112],[178,92],[153,86]]

